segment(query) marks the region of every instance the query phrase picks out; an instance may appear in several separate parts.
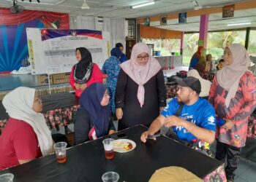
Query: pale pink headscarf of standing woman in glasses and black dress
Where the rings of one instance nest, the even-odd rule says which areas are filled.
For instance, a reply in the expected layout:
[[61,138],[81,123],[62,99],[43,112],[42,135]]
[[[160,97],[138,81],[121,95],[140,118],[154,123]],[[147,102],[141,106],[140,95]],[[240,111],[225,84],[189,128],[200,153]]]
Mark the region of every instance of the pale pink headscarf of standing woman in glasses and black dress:
[[[146,63],[145,66],[140,66],[137,62],[137,57],[143,52],[146,52],[149,56],[148,63]],[[132,47],[131,59],[121,63],[120,66],[124,72],[139,85],[137,98],[139,100],[140,107],[142,107],[145,96],[145,88],[143,85],[161,69],[158,60],[150,54],[147,44],[140,42]]]

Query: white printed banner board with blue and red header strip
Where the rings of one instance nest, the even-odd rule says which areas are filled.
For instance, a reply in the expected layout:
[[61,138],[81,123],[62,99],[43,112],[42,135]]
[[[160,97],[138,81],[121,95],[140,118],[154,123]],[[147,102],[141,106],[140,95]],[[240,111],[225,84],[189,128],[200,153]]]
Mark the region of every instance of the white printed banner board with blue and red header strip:
[[86,47],[102,68],[110,57],[110,33],[92,30],[26,28],[31,74],[70,72],[77,62],[75,48]]

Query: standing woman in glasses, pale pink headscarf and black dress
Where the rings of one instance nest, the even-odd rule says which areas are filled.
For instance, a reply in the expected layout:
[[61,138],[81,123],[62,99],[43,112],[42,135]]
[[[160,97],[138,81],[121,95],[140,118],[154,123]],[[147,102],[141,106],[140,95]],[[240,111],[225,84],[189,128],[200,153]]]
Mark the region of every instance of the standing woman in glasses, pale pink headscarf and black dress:
[[161,66],[144,43],[135,44],[131,59],[120,66],[115,98],[118,130],[136,124],[148,127],[166,106]]

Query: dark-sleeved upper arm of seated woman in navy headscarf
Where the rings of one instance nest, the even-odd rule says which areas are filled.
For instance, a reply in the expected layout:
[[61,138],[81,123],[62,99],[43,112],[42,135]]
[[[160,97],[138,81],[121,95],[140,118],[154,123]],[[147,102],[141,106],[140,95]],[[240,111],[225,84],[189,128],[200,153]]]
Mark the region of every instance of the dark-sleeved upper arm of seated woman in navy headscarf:
[[80,143],[89,141],[89,131],[91,129],[90,118],[87,113],[84,111],[78,110],[75,115],[75,144],[78,145]]

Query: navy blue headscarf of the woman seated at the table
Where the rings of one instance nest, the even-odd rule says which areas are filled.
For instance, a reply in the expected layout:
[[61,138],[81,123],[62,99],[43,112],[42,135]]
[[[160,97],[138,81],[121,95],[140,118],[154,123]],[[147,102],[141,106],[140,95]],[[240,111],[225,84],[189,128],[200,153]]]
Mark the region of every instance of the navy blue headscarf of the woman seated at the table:
[[80,109],[89,113],[91,122],[97,137],[108,135],[110,106],[102,106],[100,103],[107,87],[101,83],[91,84],[80,97]]

